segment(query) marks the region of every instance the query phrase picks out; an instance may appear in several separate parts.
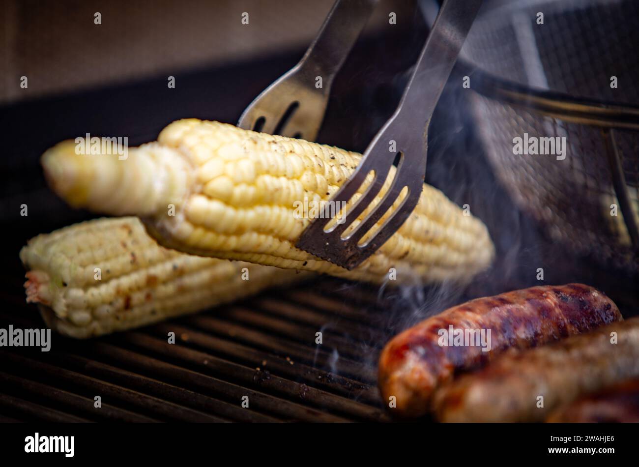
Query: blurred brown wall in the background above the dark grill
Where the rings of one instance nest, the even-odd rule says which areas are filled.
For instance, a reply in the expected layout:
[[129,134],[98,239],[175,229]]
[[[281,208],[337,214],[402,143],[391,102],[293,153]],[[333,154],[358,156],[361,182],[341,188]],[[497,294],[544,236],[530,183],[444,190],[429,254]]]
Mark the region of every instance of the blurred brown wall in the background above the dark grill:
[[[381,1],[366,33],[410,1]],[[303,49],[333,0],[3,0],[0,103]],[[407,5],[408,4],[408,5]],[[100,12],[102,24],[94,23]],[[242,13],[249,24],[242,24]],[[401,27],[401,21],[399,25]],[[365,33],[365,34],[366,34]],[[28,88],[20,88],[26,76]]]

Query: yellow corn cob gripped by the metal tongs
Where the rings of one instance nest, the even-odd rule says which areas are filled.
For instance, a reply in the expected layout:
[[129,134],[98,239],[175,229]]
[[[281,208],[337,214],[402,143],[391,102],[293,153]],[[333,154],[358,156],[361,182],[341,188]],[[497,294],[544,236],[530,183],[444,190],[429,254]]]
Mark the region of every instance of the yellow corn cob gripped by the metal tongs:
[[[312,211],[328,201],[360,158],[331,146],[185,119],[164,128],[157,142],[129,149],[126,160],[77,155],[72,142],[62,142],[43,155],[42,164],[54,190],[73,206],[139,215],[160,243],[200,256],[372,282],[385,280],[391,268],[396,282],[464,281],[491,263],[494,248],[484,224],[429,185],[399,231],[353,271],[296,249],[313,217],[304,206]],[[371,206],[380,203],[394,172]]]

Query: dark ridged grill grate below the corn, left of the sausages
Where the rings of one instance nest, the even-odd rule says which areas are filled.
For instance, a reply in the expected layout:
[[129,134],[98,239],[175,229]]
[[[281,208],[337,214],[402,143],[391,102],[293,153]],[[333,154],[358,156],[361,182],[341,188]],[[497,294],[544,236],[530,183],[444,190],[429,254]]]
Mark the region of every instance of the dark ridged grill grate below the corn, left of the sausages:
[[[42,328],[20,277],[14,271],[3,281],[0,294],[11,306],[0,310],[0,327]],[[327,278],[312,290],[277,289],[91,341],[52,334],[49,352],[0,348],[0,419],[387,421],[375,385],[383,300],[373,295],[360,307],[366,286],[340,284]],[[322,295],[327,290],[332,297]],[[171,331],[175,344],[167,342]],[[241,406],[244,395],[249,408]]]

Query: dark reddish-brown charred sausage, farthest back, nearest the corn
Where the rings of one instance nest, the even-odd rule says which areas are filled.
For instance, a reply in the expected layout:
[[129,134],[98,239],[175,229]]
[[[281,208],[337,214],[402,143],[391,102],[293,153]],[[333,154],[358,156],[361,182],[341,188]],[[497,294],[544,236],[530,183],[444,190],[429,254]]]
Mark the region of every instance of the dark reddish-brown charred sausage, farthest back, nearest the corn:
[[[422,321],[390,341],[380,356],[384,401],[395,413],[429,411],[438,385],[460,370],[479,367],[508,348],[528,348],[587,332],[622,319],[604,293],[583,284],[541,286],[478,298]],[[440,330],[490,330],[490,351],[480,346],[440,346]]]

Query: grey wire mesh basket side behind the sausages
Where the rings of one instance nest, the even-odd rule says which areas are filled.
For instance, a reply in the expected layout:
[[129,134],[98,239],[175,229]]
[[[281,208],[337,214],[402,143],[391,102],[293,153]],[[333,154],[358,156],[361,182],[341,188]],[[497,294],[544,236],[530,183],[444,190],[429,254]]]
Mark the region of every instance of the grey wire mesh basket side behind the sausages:
[[[615,104],[639,103],[635,1],[525,0],[488,6],[463,52],[473,66],[529,88]],[[619,209],[611,151],[616,149],[619,157],[636,223],[639,132],[615,129],[612,135],[599,126],[571,123],[475,93],[471,101],[498,178],[520,206],[543,222],[551,238],[638,272],[637,245]],[[523,144],[532,139],[565,141],[564,154],[557,154],[557,148],[545,155],[515,153],[516,137]]]

